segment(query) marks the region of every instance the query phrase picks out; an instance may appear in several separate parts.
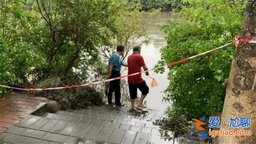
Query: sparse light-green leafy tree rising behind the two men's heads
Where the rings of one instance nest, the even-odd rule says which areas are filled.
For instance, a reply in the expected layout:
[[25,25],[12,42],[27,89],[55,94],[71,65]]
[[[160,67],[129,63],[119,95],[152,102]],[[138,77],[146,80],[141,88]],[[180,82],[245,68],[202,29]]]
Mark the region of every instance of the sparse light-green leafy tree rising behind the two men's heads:
[[[140,9],[140,3],[131,5],[121,0],[120,9],[115,21],[116,32],[109,32],[109,37],[112,37],[113,40],[108,43],[102,43],[99,46],[102,56],[109,58],[113,51],[116,51],[116,45],[123,44],[125,45],[125,54],[122,56],[122,60],[125,60],[134,45],[141,45],[149,41],[149,37],[146,34],[146,20],[143,16],[153,17],[159,10],[145,12],[140,11]],[[138,39],[141,37],[145,37],[145,40],[138,42]]]

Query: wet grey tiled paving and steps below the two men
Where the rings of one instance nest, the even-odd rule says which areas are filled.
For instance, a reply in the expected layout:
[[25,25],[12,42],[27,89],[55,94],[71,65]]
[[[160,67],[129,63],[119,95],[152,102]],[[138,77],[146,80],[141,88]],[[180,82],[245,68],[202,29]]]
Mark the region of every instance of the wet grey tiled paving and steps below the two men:
[[[3,133],[4,144],[153,144],[161,139],[163,111],[90,107],[26,116]],[[170,143],[170,142],[168,142]]]

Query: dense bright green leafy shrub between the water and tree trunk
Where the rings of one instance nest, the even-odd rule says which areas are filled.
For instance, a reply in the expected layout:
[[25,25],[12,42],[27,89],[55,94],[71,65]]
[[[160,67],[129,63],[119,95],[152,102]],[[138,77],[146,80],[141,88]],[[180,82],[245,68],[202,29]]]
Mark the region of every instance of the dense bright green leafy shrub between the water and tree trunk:
[[[186,21],[169,22],[163,28],[167,45],[161,49],[159,65],[230,43],[239,33],[244,11],[241,2],[189,0],[191,6],[180,13]],[[229,76],[233,54],[234,45],[230,45],[169,68],[164,100],[173,102],[167,110],[172,120],[180,114],[200,118],[212,111],[222,111],[225,89],[221,84]]]

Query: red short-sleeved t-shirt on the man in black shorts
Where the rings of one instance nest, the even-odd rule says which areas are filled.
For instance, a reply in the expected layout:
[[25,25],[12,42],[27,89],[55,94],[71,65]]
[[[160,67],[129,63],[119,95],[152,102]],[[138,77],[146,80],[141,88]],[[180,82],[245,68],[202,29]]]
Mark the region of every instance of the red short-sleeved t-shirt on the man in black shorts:
[[[145,62],[140,54],[133,53],[128,56],[128,74],[140,72],[143,66],[145,66]],[[142,83],[143,81],[141,73],[128,77],[128,83]]]

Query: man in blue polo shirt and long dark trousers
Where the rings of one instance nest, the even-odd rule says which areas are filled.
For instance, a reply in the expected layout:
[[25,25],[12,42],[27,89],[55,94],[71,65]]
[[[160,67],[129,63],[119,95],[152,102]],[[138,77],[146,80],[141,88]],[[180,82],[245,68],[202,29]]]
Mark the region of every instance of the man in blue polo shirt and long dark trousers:
[[[120,56],[125,53],[125,46],[124,45],[117,45],[117,51],[113,53],[108,61],[108,76],[107,79],[112,79],[115,77],[121,76],[121,65],[128,66],[127,63],[122,62]],[[108,91],[108,104],[111,105],[112,103],[112,93],[115,92],[115,102],[116,106],[124,106],[121,103],[121,92],[120,92],[120,79],[113,80],[110,82],[110,87]]]

